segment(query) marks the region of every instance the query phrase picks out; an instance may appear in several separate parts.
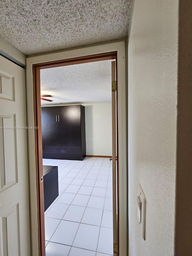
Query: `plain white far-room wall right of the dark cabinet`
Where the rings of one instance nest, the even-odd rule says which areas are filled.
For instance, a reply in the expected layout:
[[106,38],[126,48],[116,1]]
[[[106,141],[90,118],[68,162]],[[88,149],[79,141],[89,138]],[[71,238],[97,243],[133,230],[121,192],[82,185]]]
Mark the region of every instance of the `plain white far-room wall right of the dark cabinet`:
[[[86,155],[112,155],[111,102],[85,106]],[[92,152],[92,149],[94,152]]]

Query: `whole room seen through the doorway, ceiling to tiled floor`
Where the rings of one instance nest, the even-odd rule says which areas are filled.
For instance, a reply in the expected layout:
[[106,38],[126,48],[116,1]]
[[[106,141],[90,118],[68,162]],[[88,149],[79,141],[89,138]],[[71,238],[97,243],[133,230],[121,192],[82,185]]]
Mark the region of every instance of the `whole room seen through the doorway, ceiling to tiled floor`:
[[46,256],[113,255],[111,62],[41,69]]

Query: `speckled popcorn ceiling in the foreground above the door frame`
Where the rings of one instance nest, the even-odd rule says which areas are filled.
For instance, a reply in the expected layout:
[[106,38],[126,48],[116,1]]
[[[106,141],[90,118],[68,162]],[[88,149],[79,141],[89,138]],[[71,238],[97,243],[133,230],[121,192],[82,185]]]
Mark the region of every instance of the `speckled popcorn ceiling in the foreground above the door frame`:
[[26,55],[125,38],[131,0],[1,0],[0,37]]

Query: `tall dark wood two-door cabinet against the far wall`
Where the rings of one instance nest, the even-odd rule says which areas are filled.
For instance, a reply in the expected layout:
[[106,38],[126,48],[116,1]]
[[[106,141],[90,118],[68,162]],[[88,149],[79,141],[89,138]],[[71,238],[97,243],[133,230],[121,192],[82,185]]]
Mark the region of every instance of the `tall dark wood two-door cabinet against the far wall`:
[[83,160],[85,107],[41,107],[43,158]]

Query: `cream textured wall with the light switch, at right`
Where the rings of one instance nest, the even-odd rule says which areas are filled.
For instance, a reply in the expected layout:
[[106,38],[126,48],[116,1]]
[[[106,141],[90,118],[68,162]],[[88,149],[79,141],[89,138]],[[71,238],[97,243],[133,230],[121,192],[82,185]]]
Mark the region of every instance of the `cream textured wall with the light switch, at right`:
[[[135,0],[128,43],[129,255],[173,256],[178,1]],[[146,240],[137,185],[146,196]]]

